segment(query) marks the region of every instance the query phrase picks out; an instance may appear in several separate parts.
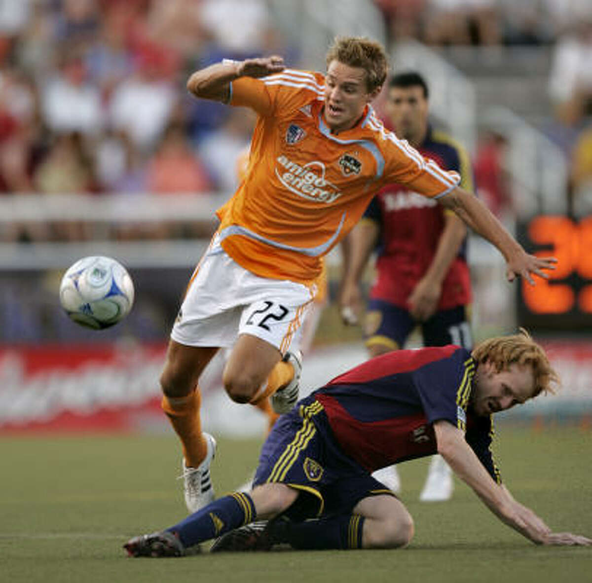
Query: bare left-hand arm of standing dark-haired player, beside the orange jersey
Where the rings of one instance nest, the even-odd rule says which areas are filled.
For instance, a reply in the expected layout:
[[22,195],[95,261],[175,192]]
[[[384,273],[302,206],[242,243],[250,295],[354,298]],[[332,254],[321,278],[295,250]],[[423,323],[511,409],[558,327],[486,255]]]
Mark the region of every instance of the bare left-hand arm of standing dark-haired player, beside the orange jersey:
[[360,280],[372,250],[377,244],[380,227],[372,220],[362,220],[347,237],[348,253],[343,266],[343,280],[339,298],[345,324],[357,324],[362,310]]

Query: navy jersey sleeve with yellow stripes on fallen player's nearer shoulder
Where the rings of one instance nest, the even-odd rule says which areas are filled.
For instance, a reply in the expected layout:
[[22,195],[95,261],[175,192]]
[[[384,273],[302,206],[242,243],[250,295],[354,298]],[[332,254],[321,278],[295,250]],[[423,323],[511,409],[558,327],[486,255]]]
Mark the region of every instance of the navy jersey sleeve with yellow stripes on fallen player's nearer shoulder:
[[475,361],[466,350],[422,366],[413,381],[429,423],[446,420],[466,430],[466,407],[471,394]]

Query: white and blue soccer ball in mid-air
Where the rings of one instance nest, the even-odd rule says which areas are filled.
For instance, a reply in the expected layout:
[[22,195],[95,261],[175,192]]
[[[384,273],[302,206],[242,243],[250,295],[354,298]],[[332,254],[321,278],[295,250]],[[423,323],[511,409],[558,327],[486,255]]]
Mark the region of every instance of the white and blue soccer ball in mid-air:
[[76,324],[102,330],[117,324],[134,303],[134,284],[111,257],[83,257],[60,284],[60,304]]

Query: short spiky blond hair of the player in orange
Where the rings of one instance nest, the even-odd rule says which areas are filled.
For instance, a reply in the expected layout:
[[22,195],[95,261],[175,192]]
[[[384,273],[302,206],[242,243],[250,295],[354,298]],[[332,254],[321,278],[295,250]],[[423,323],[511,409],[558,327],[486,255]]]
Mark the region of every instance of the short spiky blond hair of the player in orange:
[[335,37],[325,59],[327,67],[332,61],[339,61],[365,70],[369,93],[381,88],[387,79],[387,53],[382,44],[366,37]]

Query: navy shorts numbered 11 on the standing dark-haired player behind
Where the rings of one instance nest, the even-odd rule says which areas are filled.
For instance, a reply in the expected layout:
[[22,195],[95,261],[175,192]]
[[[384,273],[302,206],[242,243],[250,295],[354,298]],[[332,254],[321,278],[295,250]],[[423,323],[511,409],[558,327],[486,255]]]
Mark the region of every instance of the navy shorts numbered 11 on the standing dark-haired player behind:
[[466,305],[440,310],[425,322],[418,323],[404,308],[382,299],[370,299],[364,324],[366,346],[386,344],[392,349],[403,348],[407,337],[419,324],[422,327],[424,346],[457,344],[471,350],[468,311],[469,307]]

